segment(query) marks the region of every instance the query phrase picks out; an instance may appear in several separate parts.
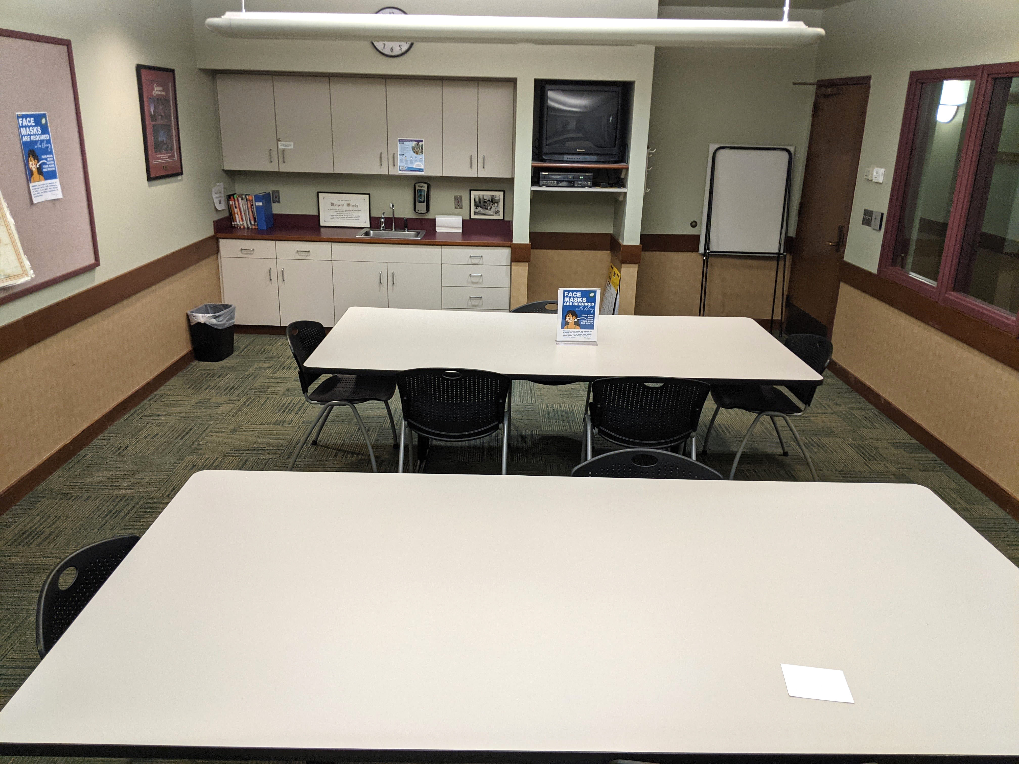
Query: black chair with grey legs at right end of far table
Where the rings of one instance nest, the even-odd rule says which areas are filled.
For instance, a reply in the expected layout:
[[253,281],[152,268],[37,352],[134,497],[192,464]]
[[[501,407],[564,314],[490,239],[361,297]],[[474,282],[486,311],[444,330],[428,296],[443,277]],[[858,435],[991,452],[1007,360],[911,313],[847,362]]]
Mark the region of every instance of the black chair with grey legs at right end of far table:
[[[826,337],[817,334],[790,334],[786,337],[786,347],[818,374],[823,374],[832,361],[832,342]],[[814,470],[814,462],[810,460],[810,454],[807,453],[807,449],[800,439],[800,433],[793,427],[790,417],[802,417],[806,414],[813,402],[814,393],[819,387],[820,385],[787,385],[786,389],[800,401],[801,405],[797,405],[792,398],[773,385],[712,385],[711,398],[717,407],[711,415],[707,432],[704,433],[704,449],[707,450],[707,439],[711,437],[711,428],[714,426],[714,420],[718,417],[718,412],[722,408],[742,408],[757,415],[750,423],[750,427],[747,428],[747,434],[743,436],[740,447],[736,451],[733,468],[729,471],[729,479],[732,480],[733,476],[736,475],[736,466],[740,463],[740,456],[747,445],[747,440],[750,439],[750,433],[757,427],[761,417],[768,417],[771,420],[774,434],[779,436],[779,445],[782,446],[782,455],[789,455],[786,443],[782,439],[782,433],[779,432],[779,423],[775,421],[775,418],[781,418],[789,426],[790,432],[793,433],[797,445],[800,446],[800,451],[803,452],[803,457],[807,460],[807,467],[810,468],[810,475],[816,481],[817,471]]]

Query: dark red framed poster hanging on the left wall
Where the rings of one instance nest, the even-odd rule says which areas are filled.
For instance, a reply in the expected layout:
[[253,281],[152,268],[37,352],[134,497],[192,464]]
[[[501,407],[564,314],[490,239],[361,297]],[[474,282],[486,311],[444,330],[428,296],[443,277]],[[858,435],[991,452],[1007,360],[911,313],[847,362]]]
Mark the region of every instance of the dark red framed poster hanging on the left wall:
[[138,64],[138,99],[142,107],[142,143],[149,180],[182,175],[177,80],[173,69]]

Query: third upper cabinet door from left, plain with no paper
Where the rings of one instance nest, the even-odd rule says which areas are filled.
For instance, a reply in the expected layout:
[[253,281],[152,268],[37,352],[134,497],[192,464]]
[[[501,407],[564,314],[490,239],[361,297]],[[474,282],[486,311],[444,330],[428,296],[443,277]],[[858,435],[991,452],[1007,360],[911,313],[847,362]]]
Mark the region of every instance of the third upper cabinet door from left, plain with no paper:
[[333,172],[385,175],[385,79],[329,77],[329,92]]

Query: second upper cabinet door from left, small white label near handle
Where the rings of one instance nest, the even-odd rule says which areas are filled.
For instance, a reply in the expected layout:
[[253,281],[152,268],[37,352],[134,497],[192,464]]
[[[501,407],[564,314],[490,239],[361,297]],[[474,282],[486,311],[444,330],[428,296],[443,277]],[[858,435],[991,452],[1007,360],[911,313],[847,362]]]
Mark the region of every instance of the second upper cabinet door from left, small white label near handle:
[[329,77],[274,76],[280,172],[332,172]]

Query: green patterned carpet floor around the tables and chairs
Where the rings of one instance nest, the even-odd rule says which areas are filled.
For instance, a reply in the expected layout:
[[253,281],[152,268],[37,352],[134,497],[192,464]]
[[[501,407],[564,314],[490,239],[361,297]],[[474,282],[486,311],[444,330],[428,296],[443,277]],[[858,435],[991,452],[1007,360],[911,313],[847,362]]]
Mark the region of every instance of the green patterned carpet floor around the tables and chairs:
[[[514,385],[511,473],[570,474],[580,461],[584,395],[582,384]],[[392,403],[398,428],[398,397]],[[395,472],[385,408],[365,403],[360,411],[379,469]],[[702,436],[712,412],[709,399]],[[192,364],[0,516],[0,705],[39,661],[36,599],[54,564],[93,541],[145,533],[199,470],[285,470],[317,413],[301,395],[283,337],[237,335],[232,357]],[[704,461],[728,475],[751,420],[740,412],[721,413]],[[787,438],[790,455],[783,456],[765,425],[758,425],[737,477],[809,480],[792,438]],[[830,374],[797,427],[821,480],[927,486],[1019,564],[1019,523]],[[609,448],[597,439],[595,446]],[[499,449],[498,436],[463,445],[437,443],[428,471],[497,473]],[[371,469],[348,411],[332,414],[320,444],[305,447],[297,469]]]

